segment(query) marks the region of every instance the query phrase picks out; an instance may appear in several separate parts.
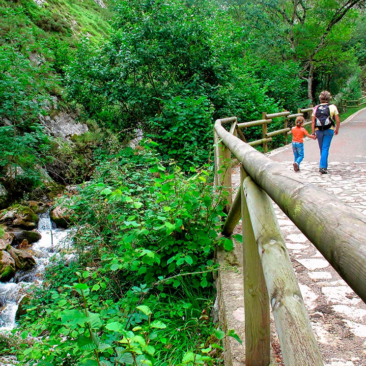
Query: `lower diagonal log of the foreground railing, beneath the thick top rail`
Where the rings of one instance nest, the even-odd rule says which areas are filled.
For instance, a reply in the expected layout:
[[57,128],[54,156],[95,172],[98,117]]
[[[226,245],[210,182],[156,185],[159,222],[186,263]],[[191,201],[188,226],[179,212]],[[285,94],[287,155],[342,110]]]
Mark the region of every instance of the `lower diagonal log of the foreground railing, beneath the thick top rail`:
[[284,364],[324,365],[273,204],[249,176],[244,179],[243,190]]

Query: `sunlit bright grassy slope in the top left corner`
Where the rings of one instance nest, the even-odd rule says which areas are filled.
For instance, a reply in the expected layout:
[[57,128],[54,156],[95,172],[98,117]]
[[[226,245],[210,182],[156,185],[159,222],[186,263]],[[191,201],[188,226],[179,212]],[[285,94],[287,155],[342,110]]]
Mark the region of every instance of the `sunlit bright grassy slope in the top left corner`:
[[11,43],[21,35],[30,44],[50,36],[72,44],[75,38],[86,34],[98,41],[110,30],[110,3],[101,2],[105,6],[102,7],[94,0],[0,0],[1,44]]

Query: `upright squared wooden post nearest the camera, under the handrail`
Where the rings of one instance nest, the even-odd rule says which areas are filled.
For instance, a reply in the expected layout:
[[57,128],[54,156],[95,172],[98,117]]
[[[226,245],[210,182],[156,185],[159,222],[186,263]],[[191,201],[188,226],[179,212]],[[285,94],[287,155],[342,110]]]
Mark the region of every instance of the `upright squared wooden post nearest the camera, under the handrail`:
[[243,231],[243,275],[245,312],[245,365],[268,366],[270,363],[269,297],[260,263],[258,246],[247,207],[243,182],[246,171],[240,169]]

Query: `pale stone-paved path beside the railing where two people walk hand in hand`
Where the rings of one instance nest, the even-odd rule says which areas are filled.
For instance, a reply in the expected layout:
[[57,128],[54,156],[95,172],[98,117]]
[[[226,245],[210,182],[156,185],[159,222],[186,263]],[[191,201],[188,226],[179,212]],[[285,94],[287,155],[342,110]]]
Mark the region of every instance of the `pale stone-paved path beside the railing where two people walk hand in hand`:
[[[357,124],[356,126],[353,121]],[[362,136],[364,136],[366,110],[357,113],[357,118],[353,118],[353,121],[351,117],[349,119],[350,129],[353,128],[356,134],[363,129]],[[341,125],[340,131],[342,130],[345,132],[346,126]],[[310,157],[308,161],[303,161],[301,171],[297,174],[301,179],[310,181],[366,215],[366,144],[362,138],[363,146],[357,145],[355,162],[350,162],[352,147],[345,147],[345,144],[350,142],[350,146],[352,146],[352,138],[348,132],[343,136],[345,135],[346,139],[338,139],[339,144],[337,145],[347,149],[343,153],[343,162],[329,159],[329,173],[322,175],[318,169],[319,157]],[[313,142],[309,139],[309,142],[306,141],[309,143],[307,146]],[[315,146],[317,148],[317,145]],[[332,156],[332,147],[333,145],[330,156]],[[335,147],[335,149],[337,148]],[[305,149],[307,151],[307,147]],[[313,149],[311,148],[311,150]],[[317,154],[319,156],[318,151]],[[286,169],[293,170],[291,145],[274,151],[268,156],[278,161]],[[342,154],[339,154],[338,157],[342,157]],[[238,187],[240,184],[239,167],[235,167],[232,172],[233,187]],[[326,366],[366,366],[366,304],[340,278],[322,254],[275,203],[274,207],[324,364]],[[324,219],[331,220],[332,218]],[[238,225],[239,231],[240,228]],[[235,311],[236,320],[243,321],[243,317],[237,315],[240,310]],[[273,325],[272,330],[274,333],[272,338],[276,338]],[[244,363],[237,359],[235,365],[244,365]],[[279,365],[282,365],[282,362],[279,362]]]

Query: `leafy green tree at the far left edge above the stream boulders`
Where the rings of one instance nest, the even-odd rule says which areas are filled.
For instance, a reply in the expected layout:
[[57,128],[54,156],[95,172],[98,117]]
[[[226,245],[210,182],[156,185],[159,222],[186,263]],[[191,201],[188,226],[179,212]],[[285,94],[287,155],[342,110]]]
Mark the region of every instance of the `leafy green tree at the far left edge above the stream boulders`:
[[47,70],[40,74],[7,45],[0,46],[0,68],[0,174],[5,187],[17,192],[39,183],[34,166],[44,165],[50,155],[50,139],[37,122],[47,102],[42,89],[50,83]]

